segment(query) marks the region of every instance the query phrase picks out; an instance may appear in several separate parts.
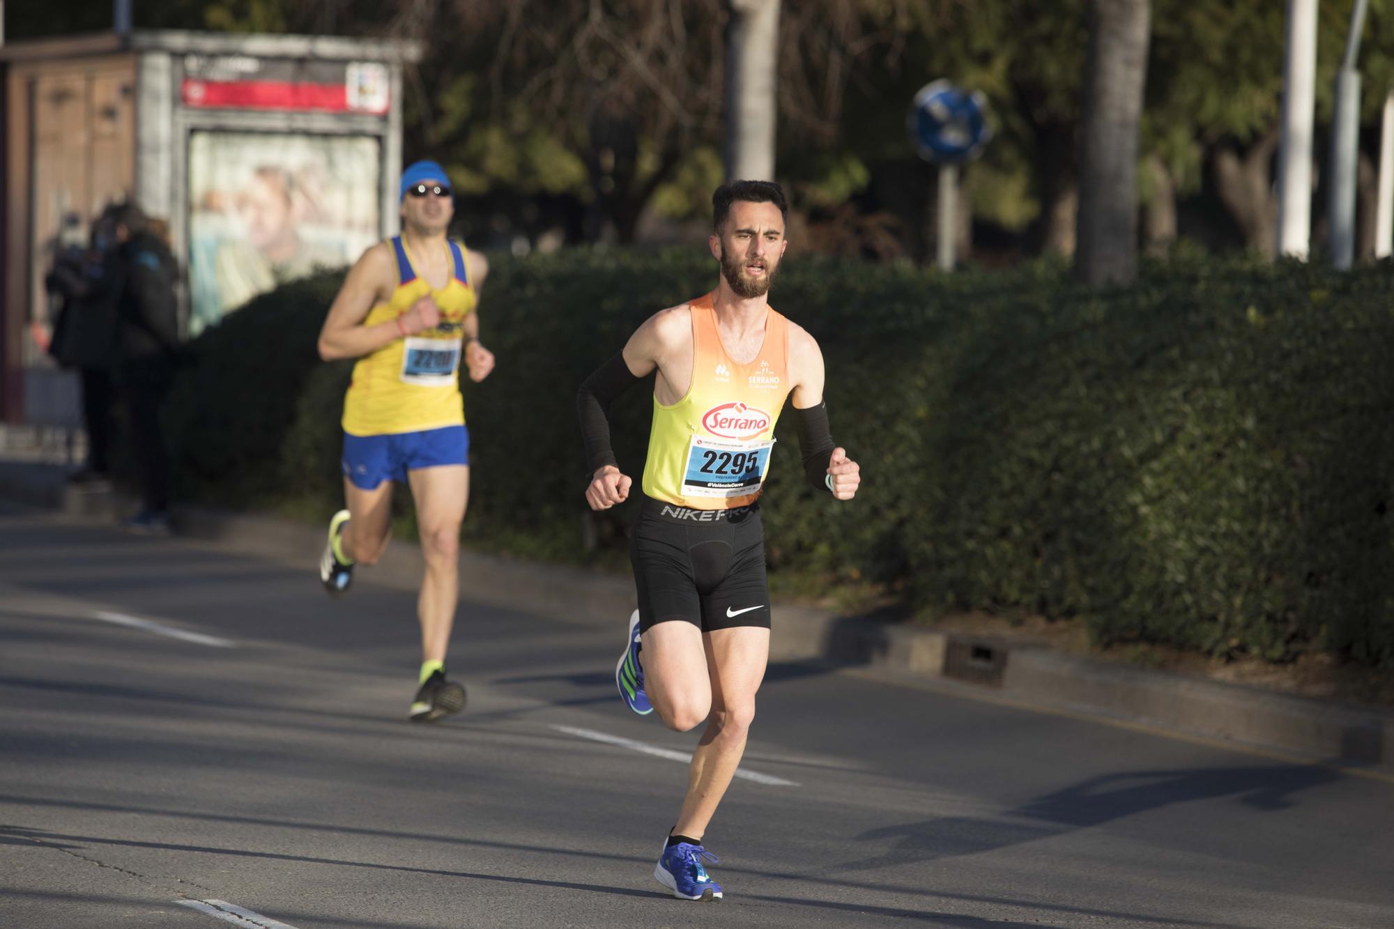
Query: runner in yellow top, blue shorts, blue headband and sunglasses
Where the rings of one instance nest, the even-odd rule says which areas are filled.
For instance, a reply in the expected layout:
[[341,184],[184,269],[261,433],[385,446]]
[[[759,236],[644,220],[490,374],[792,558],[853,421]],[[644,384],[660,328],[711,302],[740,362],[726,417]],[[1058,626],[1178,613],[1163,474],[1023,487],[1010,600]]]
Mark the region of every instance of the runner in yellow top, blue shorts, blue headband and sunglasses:
[[460,591],[460,523],[470,498],[470,432],[460,357],[473,381],[493,370],[480,343],[484,255],[446,239],[454,215],[445,170],[417,162],[401,173],[400,236],[372,246],[348,271],[319,332],[319,356],[358,358],[344,396],[344,497],[329,522],[319,579],[344,591],[354,565],[388,547],[392,481],[411,490],[425,577],[420,689],[410,718],[432,723],[464,709],[445,653]]

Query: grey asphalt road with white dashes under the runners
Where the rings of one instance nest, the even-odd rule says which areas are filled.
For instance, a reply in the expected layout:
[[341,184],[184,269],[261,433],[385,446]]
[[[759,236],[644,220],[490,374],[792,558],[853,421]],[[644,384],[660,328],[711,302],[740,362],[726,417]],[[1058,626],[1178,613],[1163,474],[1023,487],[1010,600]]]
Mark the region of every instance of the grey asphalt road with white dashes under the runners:
[[1394,926],[1388,781],[811,665],[708,830],[726,900],[673,900],[641,749],[696,737],[616,697],[625,617],[466,593],[470,706],[413,725],[413,594],[316,555],[0,511],[0,926]]

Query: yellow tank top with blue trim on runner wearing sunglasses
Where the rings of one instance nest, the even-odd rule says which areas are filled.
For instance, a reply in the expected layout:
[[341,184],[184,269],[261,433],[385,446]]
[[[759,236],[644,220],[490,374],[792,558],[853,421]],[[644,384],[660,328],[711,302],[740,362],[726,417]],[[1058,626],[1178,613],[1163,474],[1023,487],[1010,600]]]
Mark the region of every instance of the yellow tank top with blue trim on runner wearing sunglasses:
[[411,252],[401,236],[388,240],[396,258],[397,286],[386,303],[368,311],[365,325],[396,319],[429,294],[441,308],[441,325],[406,339],[396,339],[358,358],[344,395],[344,432],[392,435],[464,424],[460,396],[460,354],[464,318],[475,305],[464,248],[447,240],[452,272],[436,290],[411,266]]

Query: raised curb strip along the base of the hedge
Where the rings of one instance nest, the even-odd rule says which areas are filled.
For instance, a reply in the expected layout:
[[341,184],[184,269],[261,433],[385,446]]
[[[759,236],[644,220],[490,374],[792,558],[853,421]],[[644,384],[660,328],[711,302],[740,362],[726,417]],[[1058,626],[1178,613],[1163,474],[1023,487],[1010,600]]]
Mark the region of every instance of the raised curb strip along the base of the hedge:
[[[112,522],[134,508],[112,494],[74,491],[63,477],[63,469],[54,464],[0,460],[0,499],[82,522]],[[174,516],[185,538],[223,551],[286,559],[302,565],[307,573],[316,569],[323,547],[321,526],[205,508],[180,508]],[[415,590],[420,550],[395,540],[371,577]],[[493,607],[615,628],[634,608],[629,577],[474,551],[461,554],[461,591],[466,600]],[[825,661],[891,678],[941,682],[967,695],[1036,710],[1125,721],[1394,777],[1394,711],[824,610],[775,604],[772,614],[771,661]]]

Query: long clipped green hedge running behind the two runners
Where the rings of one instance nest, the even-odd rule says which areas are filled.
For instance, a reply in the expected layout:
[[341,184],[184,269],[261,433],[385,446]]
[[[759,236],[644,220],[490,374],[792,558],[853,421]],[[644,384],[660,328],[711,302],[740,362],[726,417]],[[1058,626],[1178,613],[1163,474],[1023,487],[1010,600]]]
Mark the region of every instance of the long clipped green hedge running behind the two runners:
[[[467,540],[585,559],[580,379],[650,312],[714,283],[700,252],[498,258],[466,386]],[[339,505],[346,364],[315,360],[337,278],[268,294],[195,343],[171,402],[187,494]],[[771,571],[875,583],[933,612],[1082,618],[1096,642],[1394,665],[1390,265],[1153,266],[1092,292],[1047,265],[942,276],[792,259],[775,304],[820,340],[852,505],[802,483],[790,417],[765,497]],[[643,469],[650,400],[616,403]],[[630,513],[598,522],[620,551]],[[618,558],[613,558],[618,561]]]

